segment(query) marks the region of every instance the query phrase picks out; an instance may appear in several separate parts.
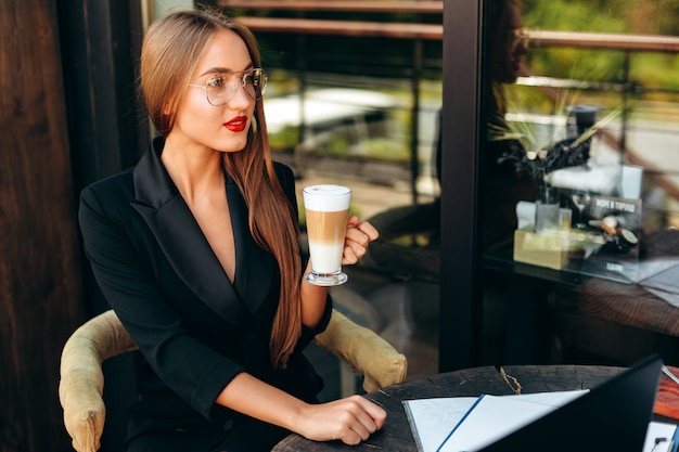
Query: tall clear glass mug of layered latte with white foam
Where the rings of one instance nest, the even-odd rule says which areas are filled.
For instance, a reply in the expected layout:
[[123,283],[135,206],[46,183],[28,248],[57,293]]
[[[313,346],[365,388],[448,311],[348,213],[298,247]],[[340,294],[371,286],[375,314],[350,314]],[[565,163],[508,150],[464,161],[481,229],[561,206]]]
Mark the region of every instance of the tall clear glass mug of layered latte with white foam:
[[348,277],[342,271],[342,253],[351,189],[310,185],[304,188],[303,195],[311,257],[311,273],[307,274],[307,281],[319,286],[344,284]]

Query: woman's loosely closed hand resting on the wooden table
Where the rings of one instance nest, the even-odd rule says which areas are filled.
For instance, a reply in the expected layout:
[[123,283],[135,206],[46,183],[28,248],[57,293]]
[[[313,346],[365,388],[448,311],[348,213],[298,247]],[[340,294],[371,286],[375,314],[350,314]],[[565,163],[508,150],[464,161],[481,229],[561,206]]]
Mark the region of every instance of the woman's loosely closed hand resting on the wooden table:
[[356,445],[382,428],[386,412],[361,396],[305,405],[295,430],[313,441],[341,440]]

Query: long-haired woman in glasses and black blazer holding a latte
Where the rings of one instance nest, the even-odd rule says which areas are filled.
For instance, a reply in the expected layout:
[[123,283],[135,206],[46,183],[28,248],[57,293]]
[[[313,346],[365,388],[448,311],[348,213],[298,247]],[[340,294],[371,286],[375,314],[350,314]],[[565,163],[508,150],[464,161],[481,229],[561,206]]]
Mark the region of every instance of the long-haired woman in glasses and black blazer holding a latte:
[[[133,169],[81,194],[86,253],[144,358],[128,451],[265,451],[289,431],[357,444],[384,424],[359,396],[316,403],[302,350],[332,306],[303,280],[294,178],[269,155],[266,81],[242,25],[207,11],[158,20],[141,90],[159,137]],[[376,237],[350,218],[343,263]]]

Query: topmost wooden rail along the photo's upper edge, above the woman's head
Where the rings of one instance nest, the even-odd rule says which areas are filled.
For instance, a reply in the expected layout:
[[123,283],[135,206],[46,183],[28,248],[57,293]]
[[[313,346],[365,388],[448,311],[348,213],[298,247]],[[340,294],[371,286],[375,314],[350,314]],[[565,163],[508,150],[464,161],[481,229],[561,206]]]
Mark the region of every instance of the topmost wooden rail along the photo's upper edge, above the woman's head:
[[359,0],[219,0],[217,5],[230,10],[248,11],[335,11],[360,13],[441,14],[444,2],[438,1],[359,1]]

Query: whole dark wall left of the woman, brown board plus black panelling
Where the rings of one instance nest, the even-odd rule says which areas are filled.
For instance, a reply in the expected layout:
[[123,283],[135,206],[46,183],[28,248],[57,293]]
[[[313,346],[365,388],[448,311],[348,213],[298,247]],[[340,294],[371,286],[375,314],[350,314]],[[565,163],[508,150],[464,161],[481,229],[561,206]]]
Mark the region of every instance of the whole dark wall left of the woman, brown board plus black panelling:
[[[106,309],[81,255],[78,193],[148,142],[139,11],[139,0],[0,2],[0,452],[73,451],[61,350]],[[110,399],[123,380],[107,379]]]

